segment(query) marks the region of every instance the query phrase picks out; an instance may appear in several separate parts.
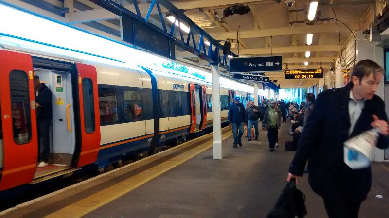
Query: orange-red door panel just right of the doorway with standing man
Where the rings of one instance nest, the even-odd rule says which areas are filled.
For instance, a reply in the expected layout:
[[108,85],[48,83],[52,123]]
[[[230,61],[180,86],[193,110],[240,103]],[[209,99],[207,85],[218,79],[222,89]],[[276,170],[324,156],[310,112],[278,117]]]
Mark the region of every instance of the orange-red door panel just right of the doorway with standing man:
[[[81,152],[77,167],[96,161],[100,149],[100,114],[96,68],[76,63],[80,102]],[[69,105],[68,105],[69,106]]]

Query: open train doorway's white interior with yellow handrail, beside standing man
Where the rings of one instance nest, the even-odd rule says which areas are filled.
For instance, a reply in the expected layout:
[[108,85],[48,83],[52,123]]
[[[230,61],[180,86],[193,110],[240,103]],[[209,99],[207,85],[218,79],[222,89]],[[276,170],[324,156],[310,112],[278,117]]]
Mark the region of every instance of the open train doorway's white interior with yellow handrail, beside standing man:
[[[52,92],[49,166],[37,168],[35,178],[71,167],[76,146],[71,72],[35,70]],[[41,148],[43,149],[43,148]]]

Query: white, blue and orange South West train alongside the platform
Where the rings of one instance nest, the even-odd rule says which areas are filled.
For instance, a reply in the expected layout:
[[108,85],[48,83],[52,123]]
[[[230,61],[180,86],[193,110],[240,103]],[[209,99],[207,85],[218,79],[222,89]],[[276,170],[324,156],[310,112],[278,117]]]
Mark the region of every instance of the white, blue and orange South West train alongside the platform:
[[[87,166],[102,170],[212,130],[212,84],[166,68],[2,48],[0,71],[0,191]],[[44,168],[37,168],[34,75],[52,92],[51,158]],[[222,123],[235,96],[243,104],[254,99],[239,87],[221,87]]]

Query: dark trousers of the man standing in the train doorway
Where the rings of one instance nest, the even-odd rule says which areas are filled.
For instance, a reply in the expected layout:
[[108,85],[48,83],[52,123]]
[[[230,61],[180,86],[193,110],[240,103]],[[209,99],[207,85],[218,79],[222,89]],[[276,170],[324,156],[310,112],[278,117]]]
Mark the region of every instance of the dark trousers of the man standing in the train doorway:
[[40,161],[48,162],[50,156],[50,125],[51,119],[36,120],[38,127],[38,150]]

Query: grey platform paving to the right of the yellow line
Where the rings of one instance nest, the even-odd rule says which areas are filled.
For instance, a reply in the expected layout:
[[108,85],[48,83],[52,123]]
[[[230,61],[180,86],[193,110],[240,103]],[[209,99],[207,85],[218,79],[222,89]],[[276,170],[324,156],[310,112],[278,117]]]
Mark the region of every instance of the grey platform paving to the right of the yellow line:
[[[259,141],[232,148],[223,141],[223,160],[212,159],[212,148],[159,175],[127,194],[88,213],[84,218],[265,218],[286,184],[294,152],[285,151],[290,124],[279,131],[280,147],[270,152],[266,132]],[[389,164],[373,164],[373,187],[362,204],[360,218],[389,217]],[[322,200],[308,185],[307,218],[326,218]],[[376,198],[383,195],[383,198]]]

